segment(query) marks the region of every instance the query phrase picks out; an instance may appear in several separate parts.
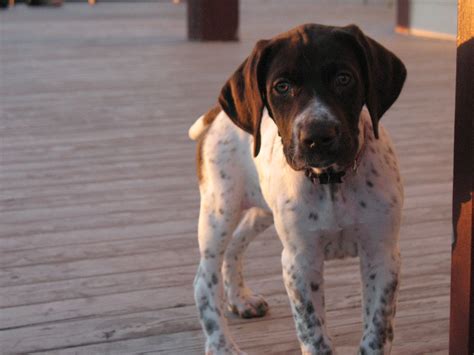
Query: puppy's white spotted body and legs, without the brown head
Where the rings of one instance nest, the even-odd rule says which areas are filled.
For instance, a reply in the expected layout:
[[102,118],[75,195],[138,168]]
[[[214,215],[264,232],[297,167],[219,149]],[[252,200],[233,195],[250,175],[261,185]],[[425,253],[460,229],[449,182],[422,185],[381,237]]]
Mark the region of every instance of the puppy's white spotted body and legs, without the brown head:
[[195,290],[208,352],[239,352],[224,319],[221,284],[230,310],[240,316],[263,316],[268,309],[263,297],[245,285],[242,256],[251,240],[272,223],[284,247],[283,278],[303,353],[334,351],[325,321],[323,261],[355,256],[361,260],[364,298],[360,353],[390,351],[403,188],[383,126],[376,140],[365,110],[360,125],[360,164],[338,185],[313,184],[289,168],[268,115],[263,118],[257,158],[251,154],[251,137],[224,112],[206,128],[200,147],[201,262]]

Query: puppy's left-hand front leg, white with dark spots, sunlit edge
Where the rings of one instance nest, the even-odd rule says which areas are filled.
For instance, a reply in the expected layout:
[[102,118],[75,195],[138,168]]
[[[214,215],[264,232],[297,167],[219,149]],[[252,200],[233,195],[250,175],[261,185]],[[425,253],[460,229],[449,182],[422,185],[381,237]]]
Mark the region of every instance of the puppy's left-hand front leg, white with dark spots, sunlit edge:
[[334,349],[325,325],[324,254],[319,239],[315,235],[304,236],[297,232],[296,226],[285,226],[281,222],[275,226],[283,243],[283,280],[301,352],[332,354]]

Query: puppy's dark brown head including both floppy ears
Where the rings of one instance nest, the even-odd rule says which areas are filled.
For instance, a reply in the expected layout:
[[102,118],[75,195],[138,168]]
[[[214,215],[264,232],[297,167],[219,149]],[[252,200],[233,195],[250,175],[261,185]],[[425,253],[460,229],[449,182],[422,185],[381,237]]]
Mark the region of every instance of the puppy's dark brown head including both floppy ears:
[[403,63],[355,25],[299,26],[259,41],[222,88],[219,103],[254,137],[266,107],[295,170],[347,166],[359,142],[359,115],[367,106],[374,135],[406,78]]

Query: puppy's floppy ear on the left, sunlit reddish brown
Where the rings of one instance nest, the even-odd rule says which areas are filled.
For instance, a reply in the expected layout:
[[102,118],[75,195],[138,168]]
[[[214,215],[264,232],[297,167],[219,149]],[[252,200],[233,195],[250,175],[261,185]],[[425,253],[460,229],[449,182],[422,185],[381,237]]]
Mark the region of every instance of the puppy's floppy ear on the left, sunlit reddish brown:
[[219,104],[230,119],[253,136],[254,156],[260,151],[260,123],[265,101],[265,50],[268,40],[258,41],[250,56],[225,83]]

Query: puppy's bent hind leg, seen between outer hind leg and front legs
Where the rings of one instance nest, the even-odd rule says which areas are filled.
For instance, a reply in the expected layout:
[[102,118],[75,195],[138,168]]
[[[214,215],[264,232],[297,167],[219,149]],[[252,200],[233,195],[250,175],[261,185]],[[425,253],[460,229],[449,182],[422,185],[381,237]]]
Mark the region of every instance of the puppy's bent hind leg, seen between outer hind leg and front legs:
[[273,224],[269,211],[253,207],[248,209],[235,229],[224,256],[222,274],[230,309],[242,318],[262,317],[268,310],[265,299],[256,295],[244,282],[242,262],[249,243]]

